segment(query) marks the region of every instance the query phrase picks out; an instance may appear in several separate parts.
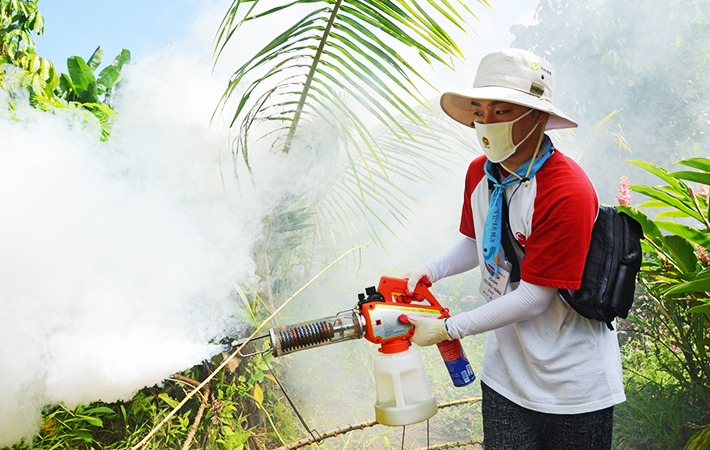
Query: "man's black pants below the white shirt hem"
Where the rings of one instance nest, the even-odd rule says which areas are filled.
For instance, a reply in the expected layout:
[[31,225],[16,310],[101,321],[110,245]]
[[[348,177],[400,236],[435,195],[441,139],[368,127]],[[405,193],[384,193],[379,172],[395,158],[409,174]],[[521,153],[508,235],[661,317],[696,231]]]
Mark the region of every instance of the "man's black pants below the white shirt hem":
[[614,407],[546,414],[516,405],[481,382],[485,450],[609,450]]

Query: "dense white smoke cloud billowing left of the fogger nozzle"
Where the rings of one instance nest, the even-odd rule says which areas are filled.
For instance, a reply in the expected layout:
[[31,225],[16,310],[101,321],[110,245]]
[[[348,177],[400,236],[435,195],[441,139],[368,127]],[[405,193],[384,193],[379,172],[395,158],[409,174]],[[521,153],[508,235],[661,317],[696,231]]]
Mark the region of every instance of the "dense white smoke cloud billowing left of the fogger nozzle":
[[254,277],[262,218],[308,189],[313,159],[255,151],[260,182],[240,186],[233,136],[210,124],[228,75],[199,50],[126,66],[105,143],[90,116],[0,90],[0,447],[47,405],[128,399],[241,329],[233,283]]

